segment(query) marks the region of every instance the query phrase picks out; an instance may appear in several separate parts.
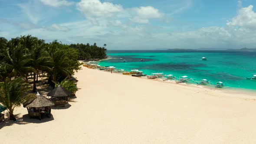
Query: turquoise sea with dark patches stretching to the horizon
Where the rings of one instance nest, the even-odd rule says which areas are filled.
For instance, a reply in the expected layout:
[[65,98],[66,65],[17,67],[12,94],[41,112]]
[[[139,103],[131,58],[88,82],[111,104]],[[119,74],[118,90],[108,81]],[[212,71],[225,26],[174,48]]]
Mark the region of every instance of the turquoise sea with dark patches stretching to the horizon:
[[[176,77],[187,75],[198,80],[208,79],[214,84],[221,81],[230,88],[256,90],[256,81],[246,80],[256,74],[256,52],[109,50],[108,57],[111,59],[103,60],[99,65],[128,71],[139,69],[147,75],[155,72]],[[207,61],[201,60],[202,57]]]

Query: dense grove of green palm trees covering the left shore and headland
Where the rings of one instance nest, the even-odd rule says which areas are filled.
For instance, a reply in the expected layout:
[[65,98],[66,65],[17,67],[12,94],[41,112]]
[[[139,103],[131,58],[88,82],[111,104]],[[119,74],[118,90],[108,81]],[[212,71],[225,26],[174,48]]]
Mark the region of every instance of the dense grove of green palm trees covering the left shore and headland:
[[[47,73],[48,84],[54,87],[55,83],[62,82],[80,69],[81,63],[78,60],[105,59],[105,46],[106,44],[98,47],[96,43],[92,46],[89,43],[66,45],[57,40],[45,43],[43,39],[31,35],[12,38],[9,41],[0,37],[0,102],[12,114],[13,108],[23,102],[21,97],[24,97],[28,90],[25,85],[30,75],[33,77],[33,92],[36,92],[41,72]],[[67,88],[74,88],[69,82],[63,81],[62,84]],[[16,95],[15,92],[20,91],[16,88],[19,87],[23,88],[24,93]],[[13,98],[18,98],[19,101],[12,101]],[[11,117],[13,118],[13,115]]]

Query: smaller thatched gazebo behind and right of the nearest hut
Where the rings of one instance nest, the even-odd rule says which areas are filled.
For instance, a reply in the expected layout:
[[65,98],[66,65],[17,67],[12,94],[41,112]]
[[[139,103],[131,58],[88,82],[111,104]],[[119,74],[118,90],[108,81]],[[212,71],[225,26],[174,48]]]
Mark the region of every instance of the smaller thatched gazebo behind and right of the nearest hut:
[[71,95],[71,92],[63,88],[62,86],[58,85],[56,88],[54,88],[51,92],[47,94],[47,96],[50,96],[51,100],[54,101],[55,106],[56,105],[63,105],[65,106],[68,104],[68,96]]

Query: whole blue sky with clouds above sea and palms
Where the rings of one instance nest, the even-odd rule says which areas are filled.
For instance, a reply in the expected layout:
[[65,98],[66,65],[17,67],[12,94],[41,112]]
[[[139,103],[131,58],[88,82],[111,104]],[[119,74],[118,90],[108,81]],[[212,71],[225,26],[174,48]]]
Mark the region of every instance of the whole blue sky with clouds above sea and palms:
[[256,48],[256,0],[0,0],[0,36],[108,49]]

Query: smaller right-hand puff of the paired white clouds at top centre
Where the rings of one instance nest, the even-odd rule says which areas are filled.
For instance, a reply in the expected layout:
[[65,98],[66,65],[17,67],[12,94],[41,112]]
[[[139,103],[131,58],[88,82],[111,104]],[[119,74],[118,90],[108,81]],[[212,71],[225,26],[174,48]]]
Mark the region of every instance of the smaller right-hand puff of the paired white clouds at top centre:
[[135,23],[148,23],[150,19],[161,18],[164,16],[158,9],[151,6],[135,7],[132,10],[136,13],[135,16],[131,18]]

